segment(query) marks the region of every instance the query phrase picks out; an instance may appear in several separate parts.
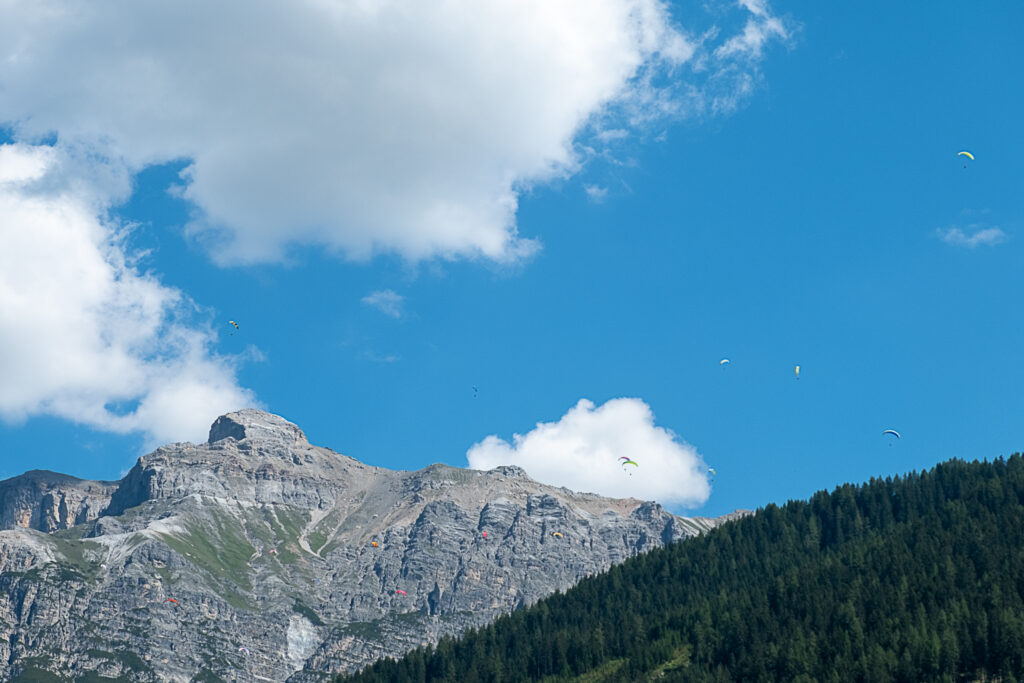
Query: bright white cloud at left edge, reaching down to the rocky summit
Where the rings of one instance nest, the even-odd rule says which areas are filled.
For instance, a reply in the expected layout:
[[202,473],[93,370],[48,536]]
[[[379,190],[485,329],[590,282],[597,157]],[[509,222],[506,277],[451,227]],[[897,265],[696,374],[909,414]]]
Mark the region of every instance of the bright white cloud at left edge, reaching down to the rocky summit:
[[151,444],[205,440],[251,405],[193,304],[142,272],[109,195],[53,147],[0,145],[0,418],[50,415]]

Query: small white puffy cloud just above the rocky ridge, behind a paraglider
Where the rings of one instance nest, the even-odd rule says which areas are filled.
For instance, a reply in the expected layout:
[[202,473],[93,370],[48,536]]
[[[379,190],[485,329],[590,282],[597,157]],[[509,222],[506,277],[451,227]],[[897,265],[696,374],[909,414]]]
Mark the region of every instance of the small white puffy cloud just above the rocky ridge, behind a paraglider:
[[[624,471],[620,456],[639,466]],[[599,408],[581,399],[558,422],[538,423],[526,434],[514,434],[512,443],[487,436],[466,458],[473,469],[518,465],[538,481],[615,498],[692,507],[711,493],[693,446],[656,427],[639,398],[613,398]]]

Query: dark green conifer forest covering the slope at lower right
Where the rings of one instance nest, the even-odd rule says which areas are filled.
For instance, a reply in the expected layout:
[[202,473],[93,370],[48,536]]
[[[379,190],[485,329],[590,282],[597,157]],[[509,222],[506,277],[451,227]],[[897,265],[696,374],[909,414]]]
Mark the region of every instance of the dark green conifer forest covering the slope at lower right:
[[1017,681],[1024,460],[769,505],[338,681]]

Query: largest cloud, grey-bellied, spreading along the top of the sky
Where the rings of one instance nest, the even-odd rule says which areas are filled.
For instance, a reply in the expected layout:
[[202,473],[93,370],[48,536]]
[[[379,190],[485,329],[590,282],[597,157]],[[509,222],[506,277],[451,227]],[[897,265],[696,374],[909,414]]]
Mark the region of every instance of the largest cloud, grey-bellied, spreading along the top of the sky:
[[296,243],[514,261],[539,246],[519,193],[572,174],[585,131],[750,92],[786,31],[735,6],[753,18],[716,49],[665,0],[8,0],[0,125],[55,133],[119,191],[122,168],[185,161],[190,231],[219,262]]

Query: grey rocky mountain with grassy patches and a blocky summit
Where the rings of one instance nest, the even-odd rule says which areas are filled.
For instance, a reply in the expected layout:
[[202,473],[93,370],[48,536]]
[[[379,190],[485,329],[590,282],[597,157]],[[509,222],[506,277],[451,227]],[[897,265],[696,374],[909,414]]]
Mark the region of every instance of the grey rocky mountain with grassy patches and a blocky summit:
[[121,481],[0,482],[0,680],[307,683],[720,520],[516,467],[371,467],[247,410]]

